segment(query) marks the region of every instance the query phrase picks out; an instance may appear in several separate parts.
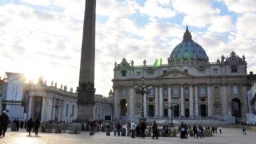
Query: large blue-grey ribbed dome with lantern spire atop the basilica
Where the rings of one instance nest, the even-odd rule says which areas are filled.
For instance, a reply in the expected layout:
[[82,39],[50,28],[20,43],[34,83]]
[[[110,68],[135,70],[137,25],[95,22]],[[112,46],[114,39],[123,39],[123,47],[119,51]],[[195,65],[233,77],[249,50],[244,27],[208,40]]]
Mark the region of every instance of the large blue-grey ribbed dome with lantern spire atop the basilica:
[[192,40],[188,28],[183,35],[183,41],[177,45],[168,59],[168,63],[198,63],[208,62],[205,50]]

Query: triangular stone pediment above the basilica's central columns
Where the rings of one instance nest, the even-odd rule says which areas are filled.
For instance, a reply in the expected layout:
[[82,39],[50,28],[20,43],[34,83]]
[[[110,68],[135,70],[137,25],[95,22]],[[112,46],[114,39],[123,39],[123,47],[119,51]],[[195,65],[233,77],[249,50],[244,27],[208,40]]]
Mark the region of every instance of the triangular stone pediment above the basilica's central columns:
[[183,71],[179,71],[178,69],[172,69],[171,71],[167,71],[167,73],[160,75],[160,78],[183,78],[183,77],[193,77],[193,75],[189,75],[188,73],[184,73]]

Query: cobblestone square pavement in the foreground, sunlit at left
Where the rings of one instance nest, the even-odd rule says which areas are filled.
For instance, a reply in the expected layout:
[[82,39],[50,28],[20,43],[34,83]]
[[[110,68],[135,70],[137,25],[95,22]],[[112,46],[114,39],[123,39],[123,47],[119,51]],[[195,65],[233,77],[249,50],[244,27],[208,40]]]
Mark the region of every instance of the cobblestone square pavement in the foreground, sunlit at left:
[[[9,129],[8,129],[9,130]],[[123,143],[178,143],[178,144],[195,144],[195,143],[243,143],[243,144],[254,144],[256,143],[256,132],[247,131],[247,135],[242,135],[241,129],[223,129],[223,134],[215,134],[214,137],[205,137],[204,139],[179,139],[177,137],[159,137],[159,139],[146,139],[136,138],[131,139],[130,137],[114,137],[113,133],[111,136],[106,136],[105,133],[95,133],[93,136],[89,136],[88,133],[81,133],[81,135],[73,134],[56,134],[56,133],[39,133],[38,137],[35,135],[28,136],[25,131],[10,132],[7,131],[5,137],[0,137],[0,144],[75,144],[75,143],[107,143],[107,144],[123,144]]]

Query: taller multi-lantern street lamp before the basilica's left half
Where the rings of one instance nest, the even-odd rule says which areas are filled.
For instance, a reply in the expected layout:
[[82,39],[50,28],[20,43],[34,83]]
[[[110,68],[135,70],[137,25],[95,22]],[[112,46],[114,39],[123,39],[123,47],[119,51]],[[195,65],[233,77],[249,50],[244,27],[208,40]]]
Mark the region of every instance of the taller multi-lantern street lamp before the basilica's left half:
[[151,86],[150,87],[146,87],[145,83],[144,83],[144,77],[141,78],[141,81],[142,81],[142,85],[141,87],[138,87],[138,85],[135,85],[134,86],[134,89],[135,89],[135,93],[137,94],[141,94],[141,101],[142,101],[142,105],[141,105],[141,120],[144,120],[145,122],[145,118],[144,118],[144,95],[145,94],[149,94],[149,91],[151,89]]

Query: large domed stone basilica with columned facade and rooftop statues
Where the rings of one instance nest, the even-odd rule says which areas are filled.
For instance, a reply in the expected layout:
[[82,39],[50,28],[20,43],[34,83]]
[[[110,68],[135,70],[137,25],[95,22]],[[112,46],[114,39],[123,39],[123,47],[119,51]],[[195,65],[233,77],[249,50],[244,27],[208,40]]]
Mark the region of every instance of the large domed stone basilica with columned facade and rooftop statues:
[[[167,64],[135,66],[123,58],[115,63],[113,77],[113,117],[235,117],[245,119],[250,89],[245,56],[231,51],[215,62],[201,45],[193,41],[186,29],[183,41],[171,52]],[[135,93],[134,86],[151,87],[145,95]],[[143,98],[142,98],[143,97]],[[143,99],[143,103],[142,103]],[[173,105],[173,114],[170,108]]]

